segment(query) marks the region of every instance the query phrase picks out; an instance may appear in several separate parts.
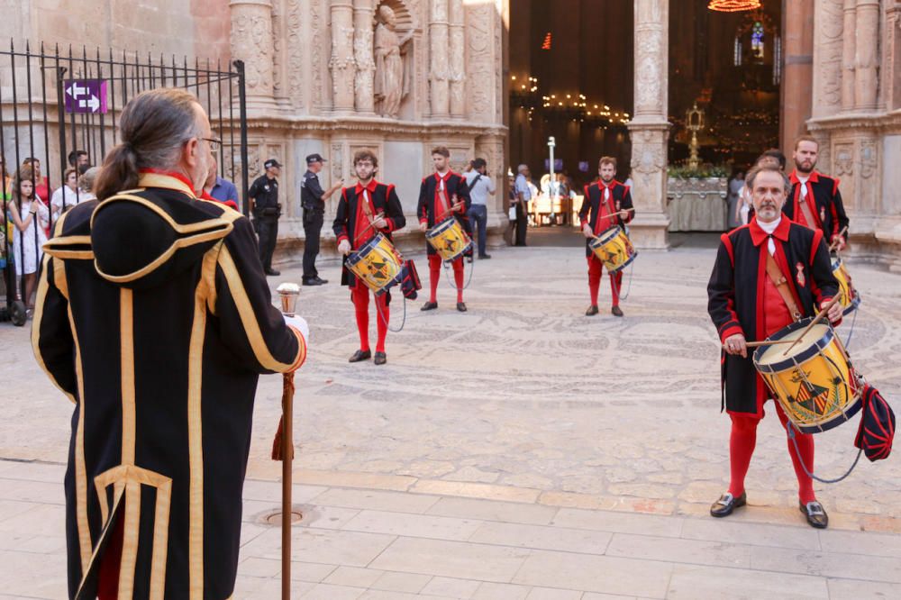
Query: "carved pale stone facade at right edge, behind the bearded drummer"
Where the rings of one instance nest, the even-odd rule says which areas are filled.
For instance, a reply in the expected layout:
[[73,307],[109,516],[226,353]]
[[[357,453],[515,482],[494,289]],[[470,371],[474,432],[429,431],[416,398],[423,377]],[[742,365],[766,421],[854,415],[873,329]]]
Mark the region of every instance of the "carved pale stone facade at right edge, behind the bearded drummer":
[[901,2],[818,0],[814,106],[818,168],[842,180],[851,252],[901,270]]

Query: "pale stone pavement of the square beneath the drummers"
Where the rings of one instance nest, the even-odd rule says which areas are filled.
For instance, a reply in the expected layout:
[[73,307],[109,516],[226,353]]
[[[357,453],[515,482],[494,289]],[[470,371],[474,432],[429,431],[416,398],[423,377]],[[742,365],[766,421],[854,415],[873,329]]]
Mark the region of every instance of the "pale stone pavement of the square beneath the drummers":
[[[894,457],[817,485],[831,528],[816,532],[797,511],[770,417],[750,506],[705,516],[727,483],[729,430],[705,311],[709,245],[642,252],[623,319],[582,315],[580,249],[493,250],[475,263],[469,313],[453,310],[442,281],[440,309],[408,303],[378,368],[347,363],[352,307],[334,285],[338,264],[323,264],[332,283],[304,287],[300,301],[313,340],[297,376],[296,597],[901,597]],[[901,277],[850,268],[864,295],[852,359],[895,401]],[[281,280],[299,272],[273,286]],[[395,326],[402,306],[396,298]],[[71,408],[41,376],[25,330],[0,324],[0,356],[0,593],[60,597]],[[280,393],[279,377],[261,379],[235,597],[278,597],[279,532],[267,517],[279,502],[268,450]],[[851,463],[856,429],[817,436],[822,475]]]

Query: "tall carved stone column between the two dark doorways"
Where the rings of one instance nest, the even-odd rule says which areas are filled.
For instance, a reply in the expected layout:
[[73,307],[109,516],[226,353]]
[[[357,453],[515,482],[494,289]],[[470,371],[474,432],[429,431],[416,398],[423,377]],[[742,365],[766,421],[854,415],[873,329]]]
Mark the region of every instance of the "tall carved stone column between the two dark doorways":
[[635,219],[640,248],[669,248],[667,140],[669,138],[669,0],[635,0],[635,114],[629,122]]

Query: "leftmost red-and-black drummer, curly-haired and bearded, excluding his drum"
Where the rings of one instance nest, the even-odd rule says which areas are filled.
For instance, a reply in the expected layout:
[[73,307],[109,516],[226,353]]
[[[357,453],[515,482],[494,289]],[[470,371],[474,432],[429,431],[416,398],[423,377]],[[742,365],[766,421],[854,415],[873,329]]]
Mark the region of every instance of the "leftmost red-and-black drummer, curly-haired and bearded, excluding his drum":
[[[350,300],[353,302],[357,316],[359,332],[359,350],[350,357],[350,362],[367,360],[372,356],[369,349],[369,287],[347,268],[347,255],[351,250],[358,250],[377,233],[391,240],[391,232],[401,229],[406,224],[404,208],[397,197],[395,186],[376,181],[378,157],[372,150],[358,150],[353,155],[353,168],[358,183],[353,187],[341,189],[341,199],[335,215],[332,229],[338,241],[338,251],[344,255],[341,268],[341,285],[350,286]],[[375,295],[376,298],[376,341],[375,363],[384,365],[387,362],[385,353],[385,337],[390,321],[391,292]]]

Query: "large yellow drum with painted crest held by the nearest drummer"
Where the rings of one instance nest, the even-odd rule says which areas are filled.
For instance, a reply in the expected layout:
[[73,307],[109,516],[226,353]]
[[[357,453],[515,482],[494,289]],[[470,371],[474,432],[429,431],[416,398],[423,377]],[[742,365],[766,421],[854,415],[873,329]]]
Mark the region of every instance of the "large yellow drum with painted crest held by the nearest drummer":
[[[792,323],[767,341],[798,340],[812,320]],[[857,375],[832,326],[815,324],[786,355],[789,346],[760,346],[754,351],[754,367],[798,431],[824,432],[860,411]]]

